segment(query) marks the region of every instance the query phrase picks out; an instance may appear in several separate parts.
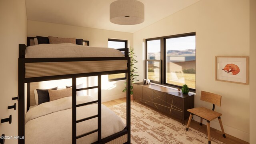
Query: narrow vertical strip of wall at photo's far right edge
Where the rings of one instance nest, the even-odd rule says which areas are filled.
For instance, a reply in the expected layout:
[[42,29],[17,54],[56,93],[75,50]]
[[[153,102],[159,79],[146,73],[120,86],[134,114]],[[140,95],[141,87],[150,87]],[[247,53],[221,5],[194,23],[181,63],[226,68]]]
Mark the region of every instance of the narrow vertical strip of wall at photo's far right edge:
[[256,0],[250,0],[250,143],[256,143]]

